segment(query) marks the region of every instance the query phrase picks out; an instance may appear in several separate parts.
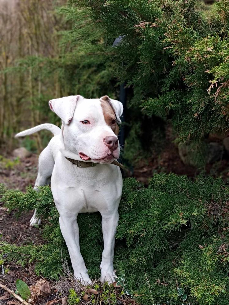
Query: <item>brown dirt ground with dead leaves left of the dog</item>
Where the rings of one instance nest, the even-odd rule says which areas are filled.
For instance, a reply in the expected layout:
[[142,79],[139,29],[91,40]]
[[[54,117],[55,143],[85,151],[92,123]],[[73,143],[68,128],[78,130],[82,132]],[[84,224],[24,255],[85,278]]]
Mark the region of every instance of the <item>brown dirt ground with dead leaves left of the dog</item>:
[[[8,157],[10,160],[14,158]],[[7,161],[4,160],[0,166],[0,183],[7,188],[25,191],[26,187],[33,184],[37,172],[37,155],[21,159],[19,164],[7,168]],[[9,163],[9,162],[8,162]],[[0,200],[1,201],[1,200]],[[40,244],[42,243],[41,233],[35,227],[29,227],[29,220],[33,212],[23,213],[19,219],[14,217],[14,212],[9,213],[7,208],[0,202],[0,235],[1,241],[16,245]],[[28,286],[36,285],[41,277],[34,273],[34,265],[21,268],[17,264],[2,265],[0,282],[7,288],[15,291],[17,278],[23,280]],[[46,281],[45,281],[46,282]],[[53,293],[52,293],[53,294]],[[51,296],[49,297],[49,299]],[[57,298],[53,294],[53,298]],[[58,298],[59,299],[59,298]],[[38,304],[46,304],[48,298],[40,296]],[[21,304],[12,298],[9,292],[0,288],[0,304]]]

